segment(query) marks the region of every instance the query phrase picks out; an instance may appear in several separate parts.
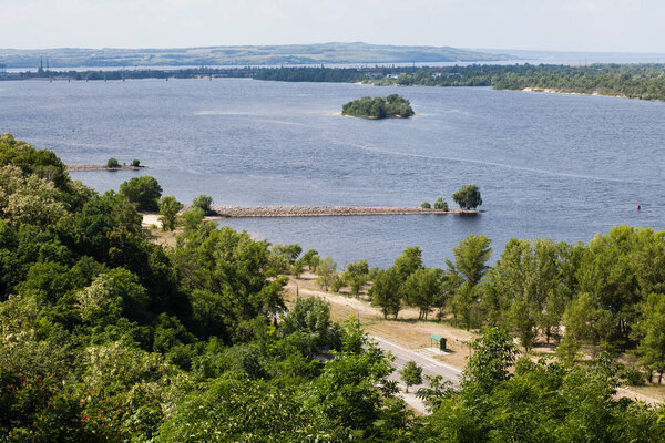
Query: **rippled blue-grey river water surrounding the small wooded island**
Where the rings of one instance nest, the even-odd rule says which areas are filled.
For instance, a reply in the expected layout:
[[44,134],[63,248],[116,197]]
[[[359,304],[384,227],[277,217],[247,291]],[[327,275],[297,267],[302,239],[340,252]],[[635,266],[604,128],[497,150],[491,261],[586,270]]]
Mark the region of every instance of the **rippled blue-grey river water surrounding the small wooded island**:
[[[398,93],[408,120],[336,115]],[[483,233],[493,259],[512,237],[589,241],[613,226],[664,229],[665,103],[493,91],[253,80],[0,83],[0,131],[66,163],[137,158],[143,172],[72,173],[98,190],[155,176],[165,195],[231,205],[419,206],[477,184],[479,216],[224,222],[298,243],[341,266],[387,266],[411,245],[444,266]],[[636,206],[642,206],[637,212]]]

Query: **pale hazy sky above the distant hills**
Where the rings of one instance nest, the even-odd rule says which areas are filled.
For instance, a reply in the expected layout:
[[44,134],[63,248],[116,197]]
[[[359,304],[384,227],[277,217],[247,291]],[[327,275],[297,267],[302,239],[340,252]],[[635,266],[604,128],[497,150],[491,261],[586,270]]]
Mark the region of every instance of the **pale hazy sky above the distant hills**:
[[665,0],[0,0],[0,48],[364,41],[665,53]]

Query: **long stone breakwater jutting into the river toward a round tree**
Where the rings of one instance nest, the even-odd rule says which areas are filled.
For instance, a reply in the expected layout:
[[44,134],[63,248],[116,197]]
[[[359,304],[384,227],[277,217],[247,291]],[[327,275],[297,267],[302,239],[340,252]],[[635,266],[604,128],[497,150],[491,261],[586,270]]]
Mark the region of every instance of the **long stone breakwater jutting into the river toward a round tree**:
[[222,206],[213,205],[215,218],[224,217],[336,217],[368,215],[479,214],[480,210],[424,209],[391,206]]

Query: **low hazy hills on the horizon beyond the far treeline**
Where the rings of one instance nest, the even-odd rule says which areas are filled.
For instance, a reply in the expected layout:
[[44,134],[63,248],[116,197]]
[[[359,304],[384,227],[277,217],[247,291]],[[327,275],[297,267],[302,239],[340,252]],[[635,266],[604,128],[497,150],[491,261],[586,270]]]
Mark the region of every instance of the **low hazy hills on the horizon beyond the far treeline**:
[[47,60],[50,68],[79,68],[485,62],[509,59],[504,54],[450,47],[396,47],[360,42],[182,49],[0,49],[0,63],[8,68],[37,68],[42,58],[44,68]]

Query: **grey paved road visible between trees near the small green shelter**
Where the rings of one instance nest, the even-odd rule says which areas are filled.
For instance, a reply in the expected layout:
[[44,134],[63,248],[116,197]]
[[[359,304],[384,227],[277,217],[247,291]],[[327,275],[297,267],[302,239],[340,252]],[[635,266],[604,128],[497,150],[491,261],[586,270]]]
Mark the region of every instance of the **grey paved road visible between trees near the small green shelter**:
[[[379,348],[381,348],[383,351],[390,351],[395,356],[395,367],[397,368],[397,370],[390,377],[392,380],[396,380],[401,383],[401,380],[399,379],[399,371],[409,360],[413,360],[419,367],[422,367],[423,379],[424,375],[441,375],[443,380],[450,381],[454,387],[459,385],[461,378],[460,370],[451,365],[441,363],[440,361],[421,356],[420,353],[411,349],[402,348],[379,337],[370,336],[370,338],[376,340]],[[405,387],[402,384],[400,384],[400,387],[403,391]],[[416,409],[417,411],[420,411],[421,413],[427,413],[424,403],[422,403],[420,399],[413,395],[413,392],[416,392],[421,387],[422,385],[411,387],[410,393],[407,394],[402,392],[401,396],[411,408]]]

